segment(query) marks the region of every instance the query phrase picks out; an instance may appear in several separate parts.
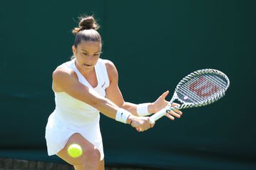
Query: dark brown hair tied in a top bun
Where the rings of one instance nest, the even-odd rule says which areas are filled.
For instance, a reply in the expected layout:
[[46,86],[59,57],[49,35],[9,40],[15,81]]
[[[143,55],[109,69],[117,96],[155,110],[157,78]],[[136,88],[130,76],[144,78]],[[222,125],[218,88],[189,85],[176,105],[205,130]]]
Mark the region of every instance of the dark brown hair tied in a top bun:
[[98,41],[101,43],[101,35],[96,31],[100,26],[93,16],[80,18],[78,28],[73,28],[73,34],[76,35],[74,46],[77,48],[81,41]]

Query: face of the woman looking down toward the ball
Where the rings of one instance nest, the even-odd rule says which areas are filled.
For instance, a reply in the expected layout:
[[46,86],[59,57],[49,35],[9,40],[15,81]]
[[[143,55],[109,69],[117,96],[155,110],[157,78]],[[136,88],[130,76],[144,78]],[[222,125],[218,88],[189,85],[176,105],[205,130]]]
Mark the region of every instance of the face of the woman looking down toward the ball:
[[72,47],[76,56],[76,65],[83,71],[92,70],[101,55],[101,43],[95,41],[82,41],[77,48]]

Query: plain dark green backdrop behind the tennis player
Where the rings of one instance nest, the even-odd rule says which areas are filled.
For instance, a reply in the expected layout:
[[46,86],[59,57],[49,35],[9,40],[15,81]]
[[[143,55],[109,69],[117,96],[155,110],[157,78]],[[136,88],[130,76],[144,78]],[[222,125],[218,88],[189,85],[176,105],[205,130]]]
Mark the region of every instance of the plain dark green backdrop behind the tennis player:
[[219,102],[184,110],[175,122],[160,119],[145,133],[102,116],[107,164],[256,169],[255,6],[242,0],[1,1],[0,156],[32,149],[57,159],[46,156],[44,139],[55,107],[51,73],[71,56],[77,17],[95,14],[102,58],[116,64],[126,101],[153,102],[201,68],[222,70],[231,83]]

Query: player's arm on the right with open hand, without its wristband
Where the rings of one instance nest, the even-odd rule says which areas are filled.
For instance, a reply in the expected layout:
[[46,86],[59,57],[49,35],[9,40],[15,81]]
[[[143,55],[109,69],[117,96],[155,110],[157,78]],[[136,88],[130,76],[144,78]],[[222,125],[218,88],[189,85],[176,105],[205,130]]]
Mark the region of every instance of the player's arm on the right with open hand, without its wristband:
[[[123,99],[123,95],[121,90],[118,87],[118,70],[116,69],[116,66],[109,60],[105,60],[106,68],[108,70],[108,78],[110,80],[110,85],[106,89],[106,97],[114,102],[118,107],[121,107],[125,110],[128,110],[133,115],[138,116],[138,105],[133,104],[131,102],[126,102]],[[161,95],[158,100],[152,103],[148,103],[148,114],[152,114],[155,112],[158,112],[163,107],[167,105],[167,101],[165,101],[165,97],[168,95],[168,92],[164,92],[163,95]],[[171,115],[167,115],[168,118],[174,119],[174,117],[180,117],[182,112],[172,112]]]

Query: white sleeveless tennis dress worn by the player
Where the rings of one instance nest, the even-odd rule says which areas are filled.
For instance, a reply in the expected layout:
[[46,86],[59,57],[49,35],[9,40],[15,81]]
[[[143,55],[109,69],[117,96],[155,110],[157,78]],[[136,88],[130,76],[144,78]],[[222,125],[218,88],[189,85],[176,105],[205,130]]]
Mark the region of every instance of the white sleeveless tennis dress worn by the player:
[[[106,65],[101,58],[95,65],[97,87],[91,87],[86,78],[81,75],[75,65],[75,60],[59,65],[58,68],[71,68],[78,76],[79,82],[94,89],[99,95],[105,97],[105,89],[109,85]],[[103,143],[100,130],[100,114],[91,105],[76,100],[66,92],[54,92],[56,108],[48,117],[46,124],[46,145],[48,155],[57,154],[74,133],[81,134],[88,142],[94,145],[104,158]]]

